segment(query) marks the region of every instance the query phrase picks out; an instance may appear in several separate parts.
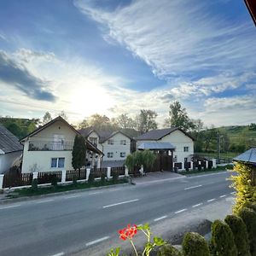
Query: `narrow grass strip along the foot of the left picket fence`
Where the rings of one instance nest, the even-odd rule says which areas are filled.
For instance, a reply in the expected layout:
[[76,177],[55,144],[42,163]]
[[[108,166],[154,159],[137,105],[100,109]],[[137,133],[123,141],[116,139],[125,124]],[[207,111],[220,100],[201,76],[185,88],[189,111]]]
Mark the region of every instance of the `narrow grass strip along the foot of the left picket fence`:
[[[121,178],[118,180],[118,183],[127,183],[126,178]],[[95,181],[94,183],[72,183],[68,185],[57,185],[57,186],[48,186],[48,187],[38,187],[38,189],[26,188],[26,189],[15,189],[15,198],[22,196],[32,196],[32,195],[47,195],[58,192],[71,191],[76,189],[90,189],[97,188],[102,186],[109,186],[113,184],[112,180],[106,181],[104,184],[101,181]]]

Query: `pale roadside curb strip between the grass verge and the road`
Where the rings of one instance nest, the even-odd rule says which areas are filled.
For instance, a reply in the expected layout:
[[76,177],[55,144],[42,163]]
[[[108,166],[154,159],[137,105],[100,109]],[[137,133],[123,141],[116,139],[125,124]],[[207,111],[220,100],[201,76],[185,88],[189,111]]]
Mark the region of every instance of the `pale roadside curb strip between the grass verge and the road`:
[[37,199],[42,199],[42,198],[47,198],[47,197],[54,197],[54,196],[58,196],[58,195],[76,194],[79,192],[85,192],[85,191],[90,191],[90,190],[95,190],[95,189],[113,189],[115,187],[125,187],[128,185],[131,185],[131,183],[121,183],[121,184],[114,184],[114,185],[108,185],[108,186],[103,186],[103,187],[94,187],[94,188],[88,188],[88,189],[74,189],[74,190],[69,190],[69,191],[50,193],[50,194],[46,194],[46,195],[32,195],[32,196],[22,196],[19,198],[1,199],[0,205],[5,205],[5,204],[9,204],[9,203],[14,203],[14,202],[20,202],[20,201],[37,200]]

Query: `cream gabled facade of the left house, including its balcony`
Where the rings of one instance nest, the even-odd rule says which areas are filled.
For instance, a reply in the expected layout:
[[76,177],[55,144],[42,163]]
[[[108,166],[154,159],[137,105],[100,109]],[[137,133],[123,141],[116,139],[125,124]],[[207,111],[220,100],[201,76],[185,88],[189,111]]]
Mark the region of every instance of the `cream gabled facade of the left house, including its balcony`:
[[[72,170],[72,148],[75,136],[75,131],[61,121],[57,121],[35,136],[29,137],[24,143],[21,172]],[[29,150],[29,143],[32,143],[34,148],[45,147],[53,150]],[[64,148],[70,149],[63,150]],[[52,159],[57,159],[56,167],[51,167]],[[59,162],[61,167],[58,167]]]

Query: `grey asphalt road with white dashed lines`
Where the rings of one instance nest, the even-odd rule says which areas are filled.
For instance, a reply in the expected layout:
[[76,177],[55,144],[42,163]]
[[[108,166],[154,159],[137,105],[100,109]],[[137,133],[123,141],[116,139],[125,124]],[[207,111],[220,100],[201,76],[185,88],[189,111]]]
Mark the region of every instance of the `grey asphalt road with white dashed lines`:
[[0,255],[61,256],[116,239],[127,224],[155,223],[233,193],[218,172],[93,189],[0,206]]

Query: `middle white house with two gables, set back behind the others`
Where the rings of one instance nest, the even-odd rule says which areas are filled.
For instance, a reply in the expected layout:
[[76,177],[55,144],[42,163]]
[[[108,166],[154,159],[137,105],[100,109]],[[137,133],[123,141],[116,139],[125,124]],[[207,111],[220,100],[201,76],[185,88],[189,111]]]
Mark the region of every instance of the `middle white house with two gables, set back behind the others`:
[[96,131],[90,127],[79,132],[102,151],[103,162],[121,162],[131,153],[131,137],[122,131]]

